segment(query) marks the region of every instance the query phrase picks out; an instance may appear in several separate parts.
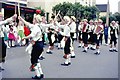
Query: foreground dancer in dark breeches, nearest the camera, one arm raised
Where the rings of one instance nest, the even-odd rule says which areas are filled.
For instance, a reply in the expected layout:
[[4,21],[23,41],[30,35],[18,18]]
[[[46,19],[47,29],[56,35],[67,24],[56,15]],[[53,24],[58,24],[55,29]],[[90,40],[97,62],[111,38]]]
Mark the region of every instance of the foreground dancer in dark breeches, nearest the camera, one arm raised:
[[33,79],[41,79],[44,77],[41,64],[38,62],[39,56],[43,52],[43,41],[42,41],[42,31],[39,27],[40,18],[34,17],[33,24],[26,22],[22,17],[19,16],[19,20],[21,20],[26,26],[31,29],[31,34],[24,37],[24,39],[32,39],[32,51],[31,51],[31,66],[30,70],[35,71],[36,75],[32,77]]

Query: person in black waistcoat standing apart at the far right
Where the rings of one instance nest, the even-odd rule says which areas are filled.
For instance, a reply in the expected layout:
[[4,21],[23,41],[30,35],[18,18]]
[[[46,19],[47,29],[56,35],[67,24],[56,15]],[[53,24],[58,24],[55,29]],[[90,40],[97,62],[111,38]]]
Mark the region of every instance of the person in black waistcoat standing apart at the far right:
[[[110,39],[110,52],[118,52],[116,49],[117,39],[118,39],[118,26],[116,25],[115,21],[111,22],[111,25],[108,30],[108,36]],[[114,42],[114,48],[112,43]]]

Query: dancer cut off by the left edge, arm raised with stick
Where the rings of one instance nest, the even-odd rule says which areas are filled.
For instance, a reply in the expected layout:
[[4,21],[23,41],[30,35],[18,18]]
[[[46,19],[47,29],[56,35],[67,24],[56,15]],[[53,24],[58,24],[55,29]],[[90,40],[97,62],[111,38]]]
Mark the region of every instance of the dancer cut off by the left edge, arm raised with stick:
[[[0,38],[2,39],[1,40],[2,41],[2,44],[1,44],[1,46],[2,46],[2,54],[0,54],[0,56],[1,56],[0,58],[2,58],[2,60],[0,62],[5,62],[6,48],[7,48],[7,46],[6,46],[5,42],[4,42],[4,30],[3,30],[2,26],[9,23],[9,22],[11,22],[11,21],[14,21],[16,19],[16,17],[17,17],[17,15],[15,14],[12,17],[10,17],[10,18],[8,18],[8,19],[6,19],[4,21],[0,21]],[[4,70],[4,69],[2,69],[2,70]]]

